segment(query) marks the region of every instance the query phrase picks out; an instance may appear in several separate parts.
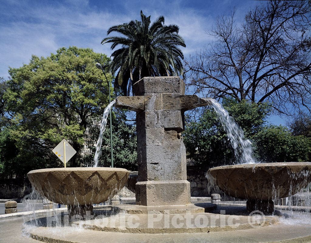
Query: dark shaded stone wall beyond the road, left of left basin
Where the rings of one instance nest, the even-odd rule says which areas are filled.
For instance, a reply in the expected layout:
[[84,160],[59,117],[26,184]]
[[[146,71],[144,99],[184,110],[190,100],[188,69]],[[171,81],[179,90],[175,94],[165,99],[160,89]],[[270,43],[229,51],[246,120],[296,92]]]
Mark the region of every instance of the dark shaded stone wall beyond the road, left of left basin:
[[31,191],[28,180],[2,179],[0,180],[0,199],[23,198]]

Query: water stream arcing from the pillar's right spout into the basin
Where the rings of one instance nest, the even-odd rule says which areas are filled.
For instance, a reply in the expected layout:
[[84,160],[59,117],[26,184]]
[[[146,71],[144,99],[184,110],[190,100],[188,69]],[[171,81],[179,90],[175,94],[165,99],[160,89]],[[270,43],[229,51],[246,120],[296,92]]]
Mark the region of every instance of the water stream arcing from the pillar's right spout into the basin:
[[234,149],[236,161],[240,164],[253,164],[258,163],[254,158],[252,143],[248,139],[244,138],[244,132],[242,128],[236,124],[233,117],[230,117],[228,111],[222,107],[222,105],[215,99],[205,99],[209,101],[210,106],[216,111],[225,132],[230,140],[230,143]]

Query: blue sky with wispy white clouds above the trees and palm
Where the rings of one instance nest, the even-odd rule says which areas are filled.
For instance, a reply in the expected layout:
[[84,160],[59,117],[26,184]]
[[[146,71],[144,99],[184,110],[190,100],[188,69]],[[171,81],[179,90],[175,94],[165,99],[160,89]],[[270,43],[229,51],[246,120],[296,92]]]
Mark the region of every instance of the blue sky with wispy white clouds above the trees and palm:
[[[236,7],[237,21],[258,1],[119,1],[0,0],[0,77],[8,77],[8,67],[28,63],[32,54],[48,56],[60,47],[93,48],[110,56],[109,44],[101,45],[111,25],[140,18],[140,10],[154,19],[165,16],[165,24],[179,25],[179,34],[187,45],[187,58],[212,41],[207,34],[216,17]],[[240,18],[240,19],[239,19]],[[285,125],[277,116],[271,122]]]

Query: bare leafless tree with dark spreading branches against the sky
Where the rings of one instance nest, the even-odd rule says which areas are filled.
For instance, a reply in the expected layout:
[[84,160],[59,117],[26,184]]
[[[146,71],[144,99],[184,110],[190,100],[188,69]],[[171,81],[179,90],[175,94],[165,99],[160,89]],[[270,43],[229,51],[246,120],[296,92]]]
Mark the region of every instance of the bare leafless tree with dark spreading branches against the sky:
[[269,1],[241,24],[234,10],[218,17],[214,42],[186,61],[189,85],[216,99],[268,101],[285,114],[310,111],[310,13],[308,1]]

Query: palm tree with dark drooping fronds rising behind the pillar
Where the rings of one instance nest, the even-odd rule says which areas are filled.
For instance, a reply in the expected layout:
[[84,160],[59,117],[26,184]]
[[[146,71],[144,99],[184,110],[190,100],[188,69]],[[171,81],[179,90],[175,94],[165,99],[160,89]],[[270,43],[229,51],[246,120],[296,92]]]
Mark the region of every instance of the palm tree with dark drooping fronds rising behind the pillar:
[[117,45],[109,64],[109,71],[117,72],[114,85],[120,87],[125,95],[132,88],[137,94],[135,83],[146,76],[179,76],[183,74],[183,53],[179,46],[186,47],[178,34],[177,25],[164,25],[164,17],[159,16],[151,24],[150,16],[140,11],[141,21],[130,21],[109,28],[107,35],[117,32],[121,36],[106,37],[101,44],[112,43],[111,50]]

